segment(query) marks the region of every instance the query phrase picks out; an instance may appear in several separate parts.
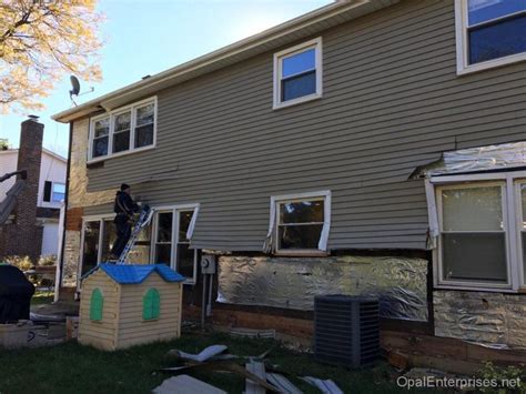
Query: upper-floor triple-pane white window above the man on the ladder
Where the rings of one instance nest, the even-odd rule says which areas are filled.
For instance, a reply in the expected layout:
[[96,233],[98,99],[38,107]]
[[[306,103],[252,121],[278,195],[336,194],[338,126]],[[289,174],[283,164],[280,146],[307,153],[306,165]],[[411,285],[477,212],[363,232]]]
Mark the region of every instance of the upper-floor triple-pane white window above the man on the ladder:
[[155,144],[156,100],[148,99],[91,120],[89,160],[135,152]]

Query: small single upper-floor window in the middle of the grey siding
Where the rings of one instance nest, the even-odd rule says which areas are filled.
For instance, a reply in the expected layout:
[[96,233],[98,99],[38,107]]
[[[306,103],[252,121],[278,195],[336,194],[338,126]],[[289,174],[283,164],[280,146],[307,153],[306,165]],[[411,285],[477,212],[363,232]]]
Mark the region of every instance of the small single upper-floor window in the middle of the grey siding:
[[321,97],[321,38],[274,54],[274,109]]

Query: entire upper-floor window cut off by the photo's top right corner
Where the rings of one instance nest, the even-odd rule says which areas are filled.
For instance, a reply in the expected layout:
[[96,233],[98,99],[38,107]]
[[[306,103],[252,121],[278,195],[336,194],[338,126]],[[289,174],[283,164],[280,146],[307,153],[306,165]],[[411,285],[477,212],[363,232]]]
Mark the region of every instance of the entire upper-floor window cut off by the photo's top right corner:
[[457,73],[526,60],[526,1],[455,0]]

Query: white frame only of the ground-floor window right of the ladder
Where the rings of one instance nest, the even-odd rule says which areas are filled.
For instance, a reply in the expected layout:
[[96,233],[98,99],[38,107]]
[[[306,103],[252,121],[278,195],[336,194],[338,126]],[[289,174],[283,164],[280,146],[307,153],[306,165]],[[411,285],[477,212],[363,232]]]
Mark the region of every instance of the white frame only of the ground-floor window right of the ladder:
[[[190,240],[190,244],[192,243],[192,233],[193,229],[195,226],[195,222],[198,220],[199,215],[199,210],[200,210],[200,204],[199,203],[193,203],[193,204],[180,204],[180,205],[162,205],[162,206],[155,206],[153,208],[155,213],[153,216],[153,226],[152,226],[152,238],[151,238],[151,255],[150,260],[153,262],[155,259],[155,243],[156,243],[156,235],[158,235],[158,225],[159,225],[159,220],[158,220],[158,213],[166,213],[171,212],[172,213],[172,253],[170,256],[170,267],[172,270],[176,271],[176,261],[178,261],[178,243],[179,243],[179,222],[180,222],[180,213],[185,212],[185,211],[192,211],[193,210],[193,215],[192,215],[192,221],[190,222],[189,230],[186,233],[186,236]],[[194,285],[198,282],[198,255],[199,251],[196,249],[194,251],[194,261],[193,261],[193,277],[186,277],[183,284],[190,284]]]

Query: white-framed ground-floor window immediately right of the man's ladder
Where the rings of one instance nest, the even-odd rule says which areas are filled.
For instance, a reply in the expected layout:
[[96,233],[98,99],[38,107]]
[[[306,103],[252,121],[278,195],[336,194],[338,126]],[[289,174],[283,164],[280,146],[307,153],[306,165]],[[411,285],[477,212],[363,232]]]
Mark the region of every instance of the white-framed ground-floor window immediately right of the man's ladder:
[[166,264],[194,284],[199,251],[190,247],[199,205],[178,205],[155,210],[152,261]]

